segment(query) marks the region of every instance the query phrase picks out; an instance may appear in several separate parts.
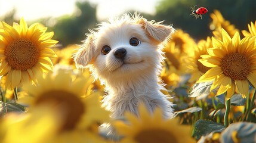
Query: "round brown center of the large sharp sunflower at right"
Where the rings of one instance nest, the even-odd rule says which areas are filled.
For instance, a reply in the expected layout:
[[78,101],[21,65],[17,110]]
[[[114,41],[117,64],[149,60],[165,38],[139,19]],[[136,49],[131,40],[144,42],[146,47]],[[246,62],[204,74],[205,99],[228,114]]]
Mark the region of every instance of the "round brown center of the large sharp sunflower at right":
[[250,71],[248,59],[239,53],[226,55],[221,61],[220,67],[223,74],[232,80],[245,80]]

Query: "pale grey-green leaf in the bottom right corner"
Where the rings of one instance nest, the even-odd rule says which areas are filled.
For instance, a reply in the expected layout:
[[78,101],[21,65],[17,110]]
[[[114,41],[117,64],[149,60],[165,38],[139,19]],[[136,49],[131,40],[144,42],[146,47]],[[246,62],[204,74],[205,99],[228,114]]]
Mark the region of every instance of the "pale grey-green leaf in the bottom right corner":
[[221,133],[221,142],[233,143],[232,133],[235,133],[236,137],[241,143],[252,143],[255,142],[256,135],[256,123],[239,122],[232,123],[229,127]]

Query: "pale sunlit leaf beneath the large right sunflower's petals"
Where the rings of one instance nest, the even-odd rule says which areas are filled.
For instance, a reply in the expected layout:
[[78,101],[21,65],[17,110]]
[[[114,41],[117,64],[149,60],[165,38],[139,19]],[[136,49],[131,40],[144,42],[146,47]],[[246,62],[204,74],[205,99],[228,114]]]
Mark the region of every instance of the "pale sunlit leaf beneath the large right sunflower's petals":
[[190,89],[189,89],[189,97],[198,97],[198,96],[208,96],[210,92],[212,82],[200,82],[195,83]]

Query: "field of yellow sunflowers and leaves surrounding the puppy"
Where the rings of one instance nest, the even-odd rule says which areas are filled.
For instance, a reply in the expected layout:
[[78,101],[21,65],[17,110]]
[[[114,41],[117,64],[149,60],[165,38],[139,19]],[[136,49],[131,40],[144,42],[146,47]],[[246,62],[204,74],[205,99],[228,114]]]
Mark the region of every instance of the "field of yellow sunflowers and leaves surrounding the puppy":
[[60,48],[41,23],[1,21],[0,142],[256,142],[256,21],[236,29],[218,10],[209,16],[212,35],[176,29],[165,44],[168,120],[143,105],[140,117],[110,119],[104,86],[75,66],[79,45]]

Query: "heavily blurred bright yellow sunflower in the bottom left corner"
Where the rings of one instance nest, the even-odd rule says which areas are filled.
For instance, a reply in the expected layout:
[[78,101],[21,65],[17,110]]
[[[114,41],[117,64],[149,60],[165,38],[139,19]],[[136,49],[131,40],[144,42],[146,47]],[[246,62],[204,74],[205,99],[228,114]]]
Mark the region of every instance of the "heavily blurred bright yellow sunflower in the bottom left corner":
[[22,114],[8,113],[1,118],[0,142],[48,142],[58,131],[58,114],[60,112],[48,107],[36,108]]

